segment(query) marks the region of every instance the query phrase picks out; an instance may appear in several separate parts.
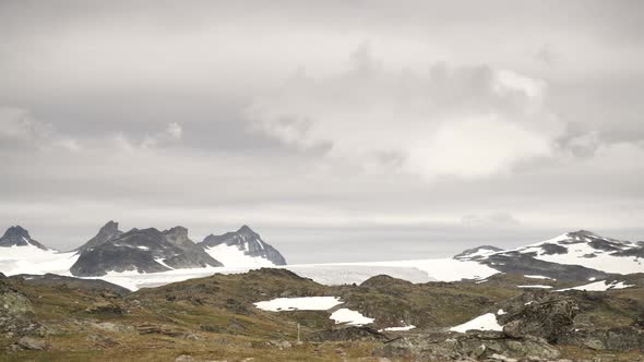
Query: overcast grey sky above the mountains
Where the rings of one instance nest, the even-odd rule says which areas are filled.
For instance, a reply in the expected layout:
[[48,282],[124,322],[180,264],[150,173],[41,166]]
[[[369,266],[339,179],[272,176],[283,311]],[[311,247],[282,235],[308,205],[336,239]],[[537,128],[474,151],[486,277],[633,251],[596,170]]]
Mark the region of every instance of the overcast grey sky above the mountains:
[[0,1],[0,228],[289,263],[644,240],[641,1]]

